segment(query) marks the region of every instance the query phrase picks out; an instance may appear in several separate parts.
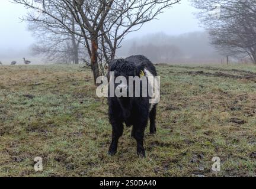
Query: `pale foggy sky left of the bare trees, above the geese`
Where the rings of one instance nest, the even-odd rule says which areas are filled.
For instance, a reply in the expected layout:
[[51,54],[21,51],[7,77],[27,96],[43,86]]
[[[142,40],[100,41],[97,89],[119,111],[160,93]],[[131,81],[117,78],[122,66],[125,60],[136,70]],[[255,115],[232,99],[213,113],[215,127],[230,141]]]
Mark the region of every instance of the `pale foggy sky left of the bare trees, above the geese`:
[[11,61],[23,63],[23,57],[34,63],[40,63],[40,58],[31,55],[30,47],[35,43],[31,32],[27,31],[27,23],[21,22],[26,9],[8,0],[0,2],[0,61],[10,64]]

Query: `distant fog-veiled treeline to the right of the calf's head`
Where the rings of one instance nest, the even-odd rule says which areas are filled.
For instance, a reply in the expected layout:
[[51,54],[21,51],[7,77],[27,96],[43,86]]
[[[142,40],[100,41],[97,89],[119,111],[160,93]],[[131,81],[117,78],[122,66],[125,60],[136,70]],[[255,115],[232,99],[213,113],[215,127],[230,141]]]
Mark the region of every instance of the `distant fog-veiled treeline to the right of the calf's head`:
[[207,32],[177,36],[157,33],[124,41],[117,55],[132,54],[143,54],[154,63],[221,63],[224,60],[210,45]]

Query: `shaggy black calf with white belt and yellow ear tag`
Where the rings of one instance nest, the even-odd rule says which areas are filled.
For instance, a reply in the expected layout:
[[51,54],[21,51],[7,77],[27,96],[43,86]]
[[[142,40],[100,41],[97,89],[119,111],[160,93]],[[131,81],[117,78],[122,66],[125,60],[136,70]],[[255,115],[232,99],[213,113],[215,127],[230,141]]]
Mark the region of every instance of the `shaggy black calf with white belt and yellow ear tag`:
[[[121,135],[123,135],[124,123],[132,126],[132,136],[137,142],[137,155],[145,157],[143,139],[145,129],[150,120],[150,133],[156,133],[156,106],[158,102],[151,103],[152,97],[147,88],[146,95],[142,95],[142,80],[139,82],[139,96],[136,96],[135,81],[129,77],[146,80],[147,86],[152,89],[159,89],[158,83],[153,86],[152,78],[157,76],[155,66],[144,56],[131,56],[125,59],[113,60],[110,63],[109,73],[114,73],[114,78],[123,77],[126,83],[115,83],[112,90],[124,92],[126,96],[110,96],[111,87],[108,91],[108,116],[112,125],[112,142],[108,151],[109,155],[117,152],[117,145]],[[151,77],[151,79],[149,79]],[[110,79],[111,80],[111,79]],[[124,91],[125,90],[125,91]],[[130,94],[133,94],[131,96]],[[155,93],[155,95],[159,95]]]

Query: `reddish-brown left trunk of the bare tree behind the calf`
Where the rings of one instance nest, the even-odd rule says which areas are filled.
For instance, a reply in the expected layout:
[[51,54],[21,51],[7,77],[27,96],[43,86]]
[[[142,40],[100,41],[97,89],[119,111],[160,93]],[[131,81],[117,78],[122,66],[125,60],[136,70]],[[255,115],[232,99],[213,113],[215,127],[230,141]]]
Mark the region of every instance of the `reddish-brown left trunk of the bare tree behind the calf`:
[[91,69],[94,76],[94,83],[96,85],[96,80],[100,76],[100,70],[98,67],[98,39],[97,37],[92,37],[91,40]]

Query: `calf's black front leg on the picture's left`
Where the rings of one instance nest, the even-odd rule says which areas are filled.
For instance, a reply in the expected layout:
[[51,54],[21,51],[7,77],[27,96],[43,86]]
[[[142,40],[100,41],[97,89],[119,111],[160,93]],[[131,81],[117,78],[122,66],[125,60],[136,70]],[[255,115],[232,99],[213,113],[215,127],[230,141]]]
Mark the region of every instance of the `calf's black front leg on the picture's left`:
[[123,135],[123,123],[112,123],[112,142],[108,155],[115,155],[120,136]]

